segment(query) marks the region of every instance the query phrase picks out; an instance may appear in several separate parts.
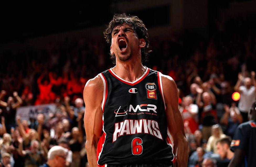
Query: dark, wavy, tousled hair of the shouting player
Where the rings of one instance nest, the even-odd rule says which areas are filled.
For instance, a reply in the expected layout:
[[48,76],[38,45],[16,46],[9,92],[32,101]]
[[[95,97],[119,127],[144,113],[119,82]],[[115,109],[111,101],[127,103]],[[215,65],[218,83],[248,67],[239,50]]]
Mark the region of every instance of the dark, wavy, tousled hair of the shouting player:
[[[106,41],[111,44],[111,34],[113,29],[116,26],[121,26],[123,23],[130,25],[134,29],[137,37],[140,39],[143,38],[145,40],[146,46],[144,48],[141,48],[141,62],[147,61],[149,56],[148,53],[151,52],[151,50],[149,49],[148,32],[142,20],[140,20],[137,16],[127,15],[125,13],[115,14],[113,19],[109,22],[108,27],[104,31],[104,37],[106,38]],[[110,59],[113,61],[114,64],[116,63],[115,54],[110,53]]]

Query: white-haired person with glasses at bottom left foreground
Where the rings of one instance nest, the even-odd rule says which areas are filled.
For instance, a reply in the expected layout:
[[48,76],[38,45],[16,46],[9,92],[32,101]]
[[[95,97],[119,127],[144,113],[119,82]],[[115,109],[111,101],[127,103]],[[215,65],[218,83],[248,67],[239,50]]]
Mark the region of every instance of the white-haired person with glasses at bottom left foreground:
[[68,150],[61,146],[52,147],[47,155],[47,162],[39,167],[63,167],[66,164]]

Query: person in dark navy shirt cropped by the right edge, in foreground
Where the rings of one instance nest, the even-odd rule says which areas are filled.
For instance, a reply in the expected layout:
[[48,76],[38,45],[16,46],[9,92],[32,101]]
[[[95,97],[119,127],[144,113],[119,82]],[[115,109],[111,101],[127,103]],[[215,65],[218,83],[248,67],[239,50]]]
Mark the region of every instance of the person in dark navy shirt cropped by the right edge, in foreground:
[[256,164],[256,103],[254,102],[248,113],[248,122],[240,124],[231,142],[234,157],[229,167],[255,166]]

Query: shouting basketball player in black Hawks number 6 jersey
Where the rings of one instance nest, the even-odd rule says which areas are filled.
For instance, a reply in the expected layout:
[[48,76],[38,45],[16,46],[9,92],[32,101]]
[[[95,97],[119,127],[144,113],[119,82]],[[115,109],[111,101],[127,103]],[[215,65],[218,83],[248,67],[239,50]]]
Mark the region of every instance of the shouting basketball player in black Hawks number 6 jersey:
[[137,16],[115,14],[104,35],[116,65],[84,88],[90,166],[187,166],[175,82],[142,65],[150,52],[145,25]]

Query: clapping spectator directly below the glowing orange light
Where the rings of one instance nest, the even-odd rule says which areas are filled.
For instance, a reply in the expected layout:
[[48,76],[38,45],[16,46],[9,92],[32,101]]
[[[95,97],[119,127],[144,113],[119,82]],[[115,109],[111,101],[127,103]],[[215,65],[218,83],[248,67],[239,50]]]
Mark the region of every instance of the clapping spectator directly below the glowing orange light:
[[224,109],[225,114],[223,114],[220,123],[226,126],[225,134],[233,137],[237,126],[243,122],[243,117],[235,103],[232,103],[230,108],[228,105],[224,105]]

